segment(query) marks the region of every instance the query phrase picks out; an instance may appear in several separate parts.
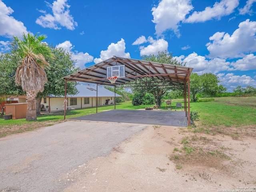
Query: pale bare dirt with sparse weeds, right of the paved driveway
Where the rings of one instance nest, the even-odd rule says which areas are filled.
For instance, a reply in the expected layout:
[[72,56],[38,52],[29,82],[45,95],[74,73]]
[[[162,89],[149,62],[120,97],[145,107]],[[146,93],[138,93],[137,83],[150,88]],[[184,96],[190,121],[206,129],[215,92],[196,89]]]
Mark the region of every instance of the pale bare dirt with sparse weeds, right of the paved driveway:
[[[248,136],[248,130],[232,129],[239,139],[223,132],[205,134],[188,128],[148,126],[114,147],[110,155],[64,175],[72,181],[64,191],[223,191],[255,187],[256,139]],[[250,132],[254,133],[253,127]]]

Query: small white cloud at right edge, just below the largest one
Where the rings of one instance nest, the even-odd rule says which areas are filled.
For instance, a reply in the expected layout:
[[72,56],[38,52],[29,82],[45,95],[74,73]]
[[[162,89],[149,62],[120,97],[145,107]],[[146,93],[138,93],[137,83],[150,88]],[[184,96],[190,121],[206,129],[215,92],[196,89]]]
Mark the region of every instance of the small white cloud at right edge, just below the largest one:
[[254,54],[246,55],[244,58],[232,62],[231,65],[234,66],[234,70],[256,70],[256,56]]

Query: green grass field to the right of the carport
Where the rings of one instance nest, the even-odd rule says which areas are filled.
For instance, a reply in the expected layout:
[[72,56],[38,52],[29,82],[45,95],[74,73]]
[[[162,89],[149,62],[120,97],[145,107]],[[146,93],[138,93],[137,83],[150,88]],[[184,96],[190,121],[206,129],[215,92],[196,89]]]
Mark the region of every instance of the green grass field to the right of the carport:
[[200,114],[202,126],[248,126],[256,124],[256,97],[214,98],[209,102],[191,102],[190,111]]

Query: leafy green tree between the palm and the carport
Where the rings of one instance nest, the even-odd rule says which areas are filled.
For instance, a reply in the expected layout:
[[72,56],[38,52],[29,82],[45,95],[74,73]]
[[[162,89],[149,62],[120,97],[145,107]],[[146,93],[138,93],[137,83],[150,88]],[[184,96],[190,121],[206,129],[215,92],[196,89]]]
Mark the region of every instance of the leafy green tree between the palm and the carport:
[[[38,92],[36,96],[37,108],[36,114],[40,114],[40,103],[46,95],[64,96],[65,95],[65,80],[63,77],[68,76],[80,68],[76,68],[75,61],[71,59],[71,53],[66,52],[63,48],[52,48],[54,57],[46,58],[50,67],[46,69],[48,82],[44,84],[44,91]],[[77,94],[76,85],[78,82],[67,82],[67,94]]]

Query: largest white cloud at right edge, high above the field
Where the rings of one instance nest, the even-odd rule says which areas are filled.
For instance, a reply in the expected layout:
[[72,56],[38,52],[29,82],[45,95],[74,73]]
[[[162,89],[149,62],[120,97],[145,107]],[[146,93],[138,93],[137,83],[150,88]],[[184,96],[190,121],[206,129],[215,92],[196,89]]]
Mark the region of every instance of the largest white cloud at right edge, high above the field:
[[209,58],[238,58],[256,51],[256,22],[247,19],[230,36],[228,33],[216,32],[206,44]]

